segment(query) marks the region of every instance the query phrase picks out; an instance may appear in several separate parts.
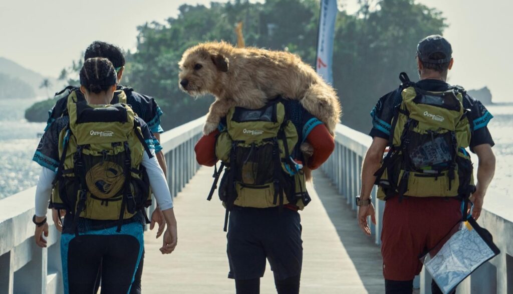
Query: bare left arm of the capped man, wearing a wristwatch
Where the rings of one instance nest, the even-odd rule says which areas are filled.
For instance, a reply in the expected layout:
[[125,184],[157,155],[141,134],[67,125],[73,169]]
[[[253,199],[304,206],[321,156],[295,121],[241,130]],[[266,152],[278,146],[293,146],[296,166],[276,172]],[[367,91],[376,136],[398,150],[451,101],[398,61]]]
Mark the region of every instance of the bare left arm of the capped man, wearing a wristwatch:
[[[383,153],[385,151],[388,140],[381,137],[374,137],[370,144],[362,164],[362,189],[360,191],[360,199],[366,200],[370,198],[372,187],[376,182],[374,173],[380,168]],[[367,223],[367,217],[370,216],[372,223],[376,224],[374,216],[374,205],[358,206],[358,225],[367,236],[370,236],[370,228]]]

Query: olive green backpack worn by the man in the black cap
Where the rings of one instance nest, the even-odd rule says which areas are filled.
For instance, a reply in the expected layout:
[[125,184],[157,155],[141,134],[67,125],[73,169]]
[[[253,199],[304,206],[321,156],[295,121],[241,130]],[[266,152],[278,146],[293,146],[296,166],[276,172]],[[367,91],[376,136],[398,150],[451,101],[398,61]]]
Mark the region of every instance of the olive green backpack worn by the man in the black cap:
[[390,151],[374,174],[378,198],[468,197],[475,191],[472,163],[465,148],[470,124],[464,90],[429,92],[401,73],[402,102],[392,119]]

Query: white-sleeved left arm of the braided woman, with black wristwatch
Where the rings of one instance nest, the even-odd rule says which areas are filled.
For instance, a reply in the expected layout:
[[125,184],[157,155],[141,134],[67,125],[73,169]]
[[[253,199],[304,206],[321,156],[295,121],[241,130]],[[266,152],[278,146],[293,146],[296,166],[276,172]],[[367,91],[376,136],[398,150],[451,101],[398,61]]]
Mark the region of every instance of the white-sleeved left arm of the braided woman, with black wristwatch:
[[[35,221],[42,222],[46,219],[46,213],[48,211],[48,200],[52,193],[52,181],[55,178],[55,173],[42,167],[39,180],[37,182],[35,190]],[[37,246],[42,248],[46,247],[46,240],[42,235],[48,237],[48,223],[42,226],[35,226],[34,241]]]

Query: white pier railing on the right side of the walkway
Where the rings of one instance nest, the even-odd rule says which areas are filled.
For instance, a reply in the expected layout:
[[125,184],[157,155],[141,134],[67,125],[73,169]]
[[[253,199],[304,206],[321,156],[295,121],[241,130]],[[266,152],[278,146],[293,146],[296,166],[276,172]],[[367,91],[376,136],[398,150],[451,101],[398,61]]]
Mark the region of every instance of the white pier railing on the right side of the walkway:
[[[363,157],[372,140],[368,135],[341,124],[337,125],[336,134],[335,150],[321,168],[337,186],[342,196],[341,201],[345,200],[356,211],[355,197],[360,194]],[[376,225],[371,225],[371,232],[376,244],[380,245],[385,202],[376,198],[376,186],[372,191],[372,199],[376,208]],[[494,236],[494,242],[501,249],[501,254],[486,262],[463,281],[458,286],[458,294],[513,293],[512,220],[513,214],[506,219],[483,209],[478,223]],[[356,219],[354,223],[356,225]],[[431,294],[431,277],[424,270],[415,284],[417,288],[420,287],[421,294]]]

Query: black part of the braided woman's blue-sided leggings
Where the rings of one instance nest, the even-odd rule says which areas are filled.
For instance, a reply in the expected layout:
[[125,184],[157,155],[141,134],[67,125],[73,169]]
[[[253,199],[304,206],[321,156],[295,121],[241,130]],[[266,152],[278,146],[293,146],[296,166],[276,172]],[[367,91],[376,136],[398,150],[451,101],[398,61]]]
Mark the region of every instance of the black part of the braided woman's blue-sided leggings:
[[140,242],[130,235],[80,235],[69,242],[69,293],[92,293],[101,270],[102,293],[126,294],[131,286]]

